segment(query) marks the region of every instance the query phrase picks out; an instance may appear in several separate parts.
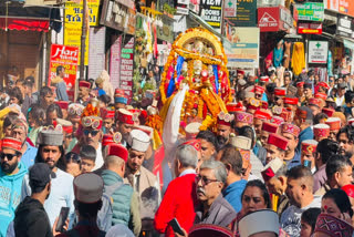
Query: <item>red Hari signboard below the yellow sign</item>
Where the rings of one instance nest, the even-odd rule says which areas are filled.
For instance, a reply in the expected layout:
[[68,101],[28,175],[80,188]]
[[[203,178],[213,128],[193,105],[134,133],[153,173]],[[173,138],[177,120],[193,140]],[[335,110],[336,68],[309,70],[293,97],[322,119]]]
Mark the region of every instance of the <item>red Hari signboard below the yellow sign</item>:
[[65,69],[65,84],[70,99],[73,100],[80,50],[77,47],[52,44],[48,83],[56,76],[56,68]]

